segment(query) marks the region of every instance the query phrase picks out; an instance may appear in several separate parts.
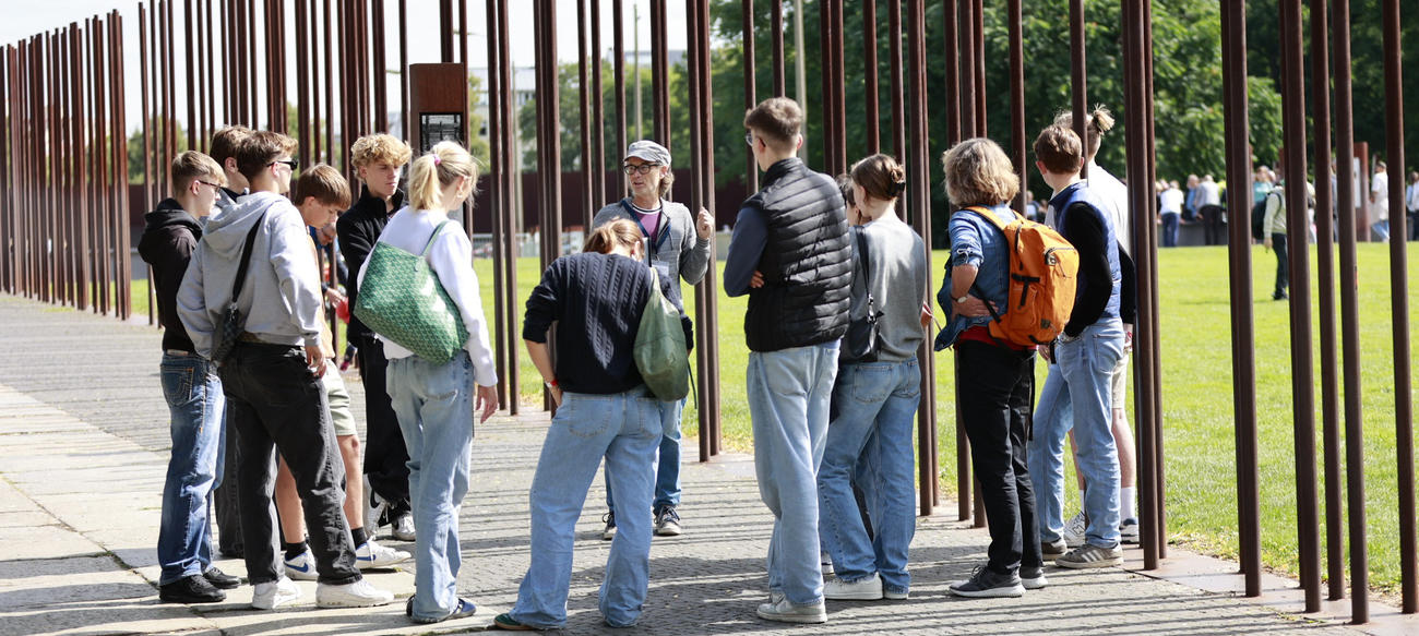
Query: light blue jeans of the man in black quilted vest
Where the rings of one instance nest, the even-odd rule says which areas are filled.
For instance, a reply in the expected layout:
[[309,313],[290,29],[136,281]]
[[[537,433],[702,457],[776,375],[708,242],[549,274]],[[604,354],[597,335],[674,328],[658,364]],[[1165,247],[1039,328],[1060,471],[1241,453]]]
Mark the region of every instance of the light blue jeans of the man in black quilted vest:
[[759,497],[773,512],[769,592],[793,605],[823,601],[817,542],[817,464],[837,376],[837,341],[749,352],[745,379]]

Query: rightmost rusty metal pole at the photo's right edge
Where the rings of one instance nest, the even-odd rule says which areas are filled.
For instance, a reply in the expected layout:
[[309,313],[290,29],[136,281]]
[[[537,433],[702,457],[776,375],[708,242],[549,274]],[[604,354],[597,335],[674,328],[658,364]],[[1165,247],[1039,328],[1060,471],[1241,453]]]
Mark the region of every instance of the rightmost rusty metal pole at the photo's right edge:
[[1395,361],[1395,440],[1399,460],[1399,589],[1403,613],[1419,612],[1419,581],[1415,564],[1415,436],[1413,396],[1410,395],[1409,359],[1409,257],[1405,227],[1405,97],[1403,72],[1399,53],[1401,21],[1399,1],[1384,3],[1385,30],[1385,156],[1395,166],[1395,177],[1389,179],[1389,291],[1393,314],[1393,361]]

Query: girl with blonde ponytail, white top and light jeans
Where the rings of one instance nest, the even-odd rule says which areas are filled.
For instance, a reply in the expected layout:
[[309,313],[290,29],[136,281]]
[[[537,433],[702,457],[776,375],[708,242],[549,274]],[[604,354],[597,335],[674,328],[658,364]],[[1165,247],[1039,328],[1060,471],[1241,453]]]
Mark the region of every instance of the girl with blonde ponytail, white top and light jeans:
[[423,254],[468,331],[463,351],[446,363],[385,342],[386,388],[409,447],[417,571],[406,613],[416,623],[473,616],[477,610],[473,602],[458,598],[455,585],[457,507],[468,493],[473,413],[477,409],[478,422],[487,422],[498,409],[498,376],[473,273],[473,244],[458,221],[448,219],[448,212],[473,194],[477,180],[478,168],[468,150],[440,142],[410,166],[409,206],[394,213],[379,234],[380,243]]

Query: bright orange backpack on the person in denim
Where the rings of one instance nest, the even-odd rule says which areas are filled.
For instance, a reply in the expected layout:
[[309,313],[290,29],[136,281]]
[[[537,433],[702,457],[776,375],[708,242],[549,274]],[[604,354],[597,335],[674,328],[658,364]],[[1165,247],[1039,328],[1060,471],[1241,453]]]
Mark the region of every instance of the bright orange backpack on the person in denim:
[[[1010,250],[1010,278],[1003,314],[990,304],[990,336],[1015,345],[1043,345],[1064,331],[1078,290],[1078,251],[1060,233],[1010,210],[1002,221],[985,207],[966,207],[1005,233]],[[979,290],[976,294],[981,294]]]

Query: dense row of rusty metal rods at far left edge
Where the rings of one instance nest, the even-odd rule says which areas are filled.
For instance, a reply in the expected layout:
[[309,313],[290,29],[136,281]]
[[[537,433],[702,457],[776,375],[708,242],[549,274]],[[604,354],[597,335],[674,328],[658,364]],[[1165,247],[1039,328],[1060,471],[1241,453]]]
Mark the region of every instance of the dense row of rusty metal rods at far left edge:
[[0,60],[0,285],[126,319],[122,16],[31,35]]

